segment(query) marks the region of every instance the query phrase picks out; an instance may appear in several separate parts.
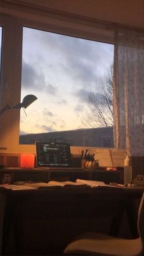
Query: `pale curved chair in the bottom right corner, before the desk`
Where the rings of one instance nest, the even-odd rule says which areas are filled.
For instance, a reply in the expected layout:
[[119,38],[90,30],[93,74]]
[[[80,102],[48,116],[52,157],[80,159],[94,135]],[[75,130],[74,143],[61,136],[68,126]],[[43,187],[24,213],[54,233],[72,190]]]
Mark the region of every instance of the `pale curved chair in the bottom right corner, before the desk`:
[[79,235],[65,248],[65,255],[144,255],[144,192],[137,220],[139,238],[123,239],[100,233],[88,232]]

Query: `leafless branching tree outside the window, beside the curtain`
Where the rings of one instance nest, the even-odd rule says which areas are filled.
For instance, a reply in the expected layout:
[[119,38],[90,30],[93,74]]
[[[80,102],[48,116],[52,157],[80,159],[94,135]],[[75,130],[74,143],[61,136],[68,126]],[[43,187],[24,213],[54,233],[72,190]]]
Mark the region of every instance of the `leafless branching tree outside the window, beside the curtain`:
[[113,66],[107,70],[103,79],[96,84],[96,92],[88,95],[88,110],[82,124],[89,127],[113,126]]

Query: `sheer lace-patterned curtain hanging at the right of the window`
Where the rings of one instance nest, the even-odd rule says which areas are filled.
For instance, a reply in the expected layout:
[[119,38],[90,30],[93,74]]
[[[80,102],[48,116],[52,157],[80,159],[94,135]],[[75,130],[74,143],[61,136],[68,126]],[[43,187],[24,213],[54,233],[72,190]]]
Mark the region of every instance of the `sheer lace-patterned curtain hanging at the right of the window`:
[[144,34],[136,31],[115,35],[113,121],[115,147],[144,156]]

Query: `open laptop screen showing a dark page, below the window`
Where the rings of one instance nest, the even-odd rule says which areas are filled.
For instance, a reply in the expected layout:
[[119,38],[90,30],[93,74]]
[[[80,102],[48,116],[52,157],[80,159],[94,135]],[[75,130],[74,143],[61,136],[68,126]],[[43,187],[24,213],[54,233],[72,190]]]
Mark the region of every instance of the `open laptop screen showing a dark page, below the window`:
[[67,143],[35,142],[37,167],[71,167],[70,145]]

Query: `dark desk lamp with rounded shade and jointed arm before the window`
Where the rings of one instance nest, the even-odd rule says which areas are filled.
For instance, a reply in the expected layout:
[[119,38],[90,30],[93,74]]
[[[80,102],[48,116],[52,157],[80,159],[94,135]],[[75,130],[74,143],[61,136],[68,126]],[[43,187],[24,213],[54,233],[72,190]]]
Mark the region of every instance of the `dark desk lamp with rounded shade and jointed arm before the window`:
[[14,107],[10,106],[9,104],[7,104],[5,106],[5,108],[3,108],[1,111],[0,111],[0,115],[2,115],[6,110],[8,109],[21,109],[21,108],[27,108],[29,105],[31,105],[35,100],[37,100],[37,97],[35,95],[32,95],[32,94],[29,94],[29,95],[26,95],[24,98],[23,98],[23,101],[21,103],[18,103],[16,104]]

